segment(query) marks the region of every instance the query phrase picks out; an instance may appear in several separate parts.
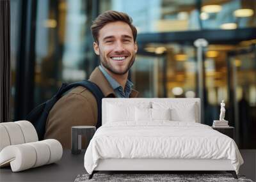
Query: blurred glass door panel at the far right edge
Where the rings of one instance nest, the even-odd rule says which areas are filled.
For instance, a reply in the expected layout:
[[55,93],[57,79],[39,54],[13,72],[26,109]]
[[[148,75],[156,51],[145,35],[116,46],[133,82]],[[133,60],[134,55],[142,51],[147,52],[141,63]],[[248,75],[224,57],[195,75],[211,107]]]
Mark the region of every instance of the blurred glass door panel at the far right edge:
[[236,142],[241,149],[256,148],[256,40],[241,42],[229,52],[230,86],[234,104]]

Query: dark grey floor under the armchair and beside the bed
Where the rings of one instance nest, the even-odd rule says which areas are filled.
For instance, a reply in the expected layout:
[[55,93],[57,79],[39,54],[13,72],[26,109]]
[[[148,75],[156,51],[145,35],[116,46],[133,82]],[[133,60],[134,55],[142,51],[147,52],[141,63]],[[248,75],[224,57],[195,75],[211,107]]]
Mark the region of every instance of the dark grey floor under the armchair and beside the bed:
[[[241,166],[239,174],[243,174],[246,178],[256,181],[256,150],[241,150],[240,152],[243,156],[244,164]],[[83,159],[84,151],[79,155],[72,155],[70,150],[65,150],[63,158],[57,163],[22,172],[12,172],[10,167],[2,168],[0,169],[0,181],[74,181],[78,174],[86,173]],[[179,172],[176,171],[175,173]],[[207,173],[211,174],[214,172]],[[216,171],[215,173],[222,172]]]

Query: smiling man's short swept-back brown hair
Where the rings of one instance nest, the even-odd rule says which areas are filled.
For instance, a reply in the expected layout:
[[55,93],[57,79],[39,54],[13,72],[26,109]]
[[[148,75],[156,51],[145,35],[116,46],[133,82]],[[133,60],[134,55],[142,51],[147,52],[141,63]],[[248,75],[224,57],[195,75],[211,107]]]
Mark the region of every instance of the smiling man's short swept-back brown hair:
[[117,21],[125,22],[131,27],[133,40],[134,42],[136,42],[137,29],[134,25],[132,25],[132,18],[129,17],[129,15],[127,15],[126,13],[122,13],[119,11],[105,11],[93,21],[91,31],[94,41],[98,43],[99,31],[100,29],[102,29],[102,27],[106,26],[106,24],[110,22]]

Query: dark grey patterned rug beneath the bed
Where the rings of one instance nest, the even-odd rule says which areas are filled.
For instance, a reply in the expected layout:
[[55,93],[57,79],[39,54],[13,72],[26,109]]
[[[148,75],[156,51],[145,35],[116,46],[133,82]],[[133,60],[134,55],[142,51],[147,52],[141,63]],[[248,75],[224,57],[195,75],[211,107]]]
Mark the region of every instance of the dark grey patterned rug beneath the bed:
[[75,182],[84,181],[250,181],[244,176],[239,176],[238,179],[234,179],[232,174],[99,174],[93,175],[92,179],[88,179],[89,174],[78,175]]

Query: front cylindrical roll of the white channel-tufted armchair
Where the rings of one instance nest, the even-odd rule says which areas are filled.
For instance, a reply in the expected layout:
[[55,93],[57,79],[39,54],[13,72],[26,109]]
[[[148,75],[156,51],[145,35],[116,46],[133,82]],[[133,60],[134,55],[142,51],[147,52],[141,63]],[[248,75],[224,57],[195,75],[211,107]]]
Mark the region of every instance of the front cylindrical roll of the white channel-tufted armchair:
[[62,153],[60,142],[54,139],[7,146],[0,152],[0,167],[10,163],[13,172],[23,171],[56,162]]

